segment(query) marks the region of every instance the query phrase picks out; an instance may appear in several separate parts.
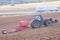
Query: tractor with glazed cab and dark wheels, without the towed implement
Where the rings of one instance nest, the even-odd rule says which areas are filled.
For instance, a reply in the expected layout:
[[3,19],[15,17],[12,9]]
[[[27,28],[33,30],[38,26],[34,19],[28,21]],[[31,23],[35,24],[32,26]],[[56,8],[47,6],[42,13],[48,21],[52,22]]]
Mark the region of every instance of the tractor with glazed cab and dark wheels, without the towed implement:
[[58,20],[50,17],[42,17],[42,15],[35,15],[34,20],[31,23],[32,28],[39,28],[42,25],[51,26],[53,23],[57,23]]

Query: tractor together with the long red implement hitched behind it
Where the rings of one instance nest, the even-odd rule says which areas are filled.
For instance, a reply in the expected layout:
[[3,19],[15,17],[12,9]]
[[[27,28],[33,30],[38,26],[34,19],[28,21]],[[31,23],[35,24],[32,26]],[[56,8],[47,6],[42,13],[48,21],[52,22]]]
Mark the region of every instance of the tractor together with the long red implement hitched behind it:
[[[41,25],[51,26],[53,23],[57,23],[57,19],[47,18],[47,17],[43,18],[41,15],[35,15],[34,20],[31,22],[30,25],[32,28],[39,28],[41,27]],[[10,28],[4,29],[2,33],[7,34],[12,32],[22,31],[28,28],[29,27],[28,25],[29,25],[28,20],[23,20],[23,21],[20,21],[19,27],[10,27]]]

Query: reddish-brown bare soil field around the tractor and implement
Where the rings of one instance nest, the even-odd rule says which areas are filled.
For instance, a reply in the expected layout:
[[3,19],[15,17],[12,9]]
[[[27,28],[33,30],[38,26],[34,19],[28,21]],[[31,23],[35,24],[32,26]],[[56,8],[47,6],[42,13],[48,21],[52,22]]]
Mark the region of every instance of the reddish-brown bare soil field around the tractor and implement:
[[[41,14],[43,17],[53,17],[60,20],[60,13]],[[2,29],[12,26],[19,26],[20,20],[33,19],[33,15],[0,17],[0,40],[60,40],[60,21],[49,27],[27,28],[21,32],[3,35]]]

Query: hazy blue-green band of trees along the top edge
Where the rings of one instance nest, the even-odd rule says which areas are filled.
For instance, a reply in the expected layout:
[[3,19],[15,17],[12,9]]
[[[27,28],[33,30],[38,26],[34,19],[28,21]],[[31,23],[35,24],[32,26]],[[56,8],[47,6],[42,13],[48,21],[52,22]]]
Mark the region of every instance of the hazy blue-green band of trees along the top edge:
[[26,3],[41,3],[41,2],[52,2],[60,0],[0,0],[0,5],[15,5],[15,4],[26,4]]

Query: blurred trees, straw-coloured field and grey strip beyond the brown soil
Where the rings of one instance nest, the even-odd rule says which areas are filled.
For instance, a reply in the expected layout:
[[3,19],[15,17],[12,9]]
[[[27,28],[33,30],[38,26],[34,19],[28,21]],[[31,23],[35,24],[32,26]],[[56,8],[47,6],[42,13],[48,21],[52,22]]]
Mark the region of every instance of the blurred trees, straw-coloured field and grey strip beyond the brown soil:
[[41,6],[60,8],[60,0],[0,0],[0,15],[35,13]]

